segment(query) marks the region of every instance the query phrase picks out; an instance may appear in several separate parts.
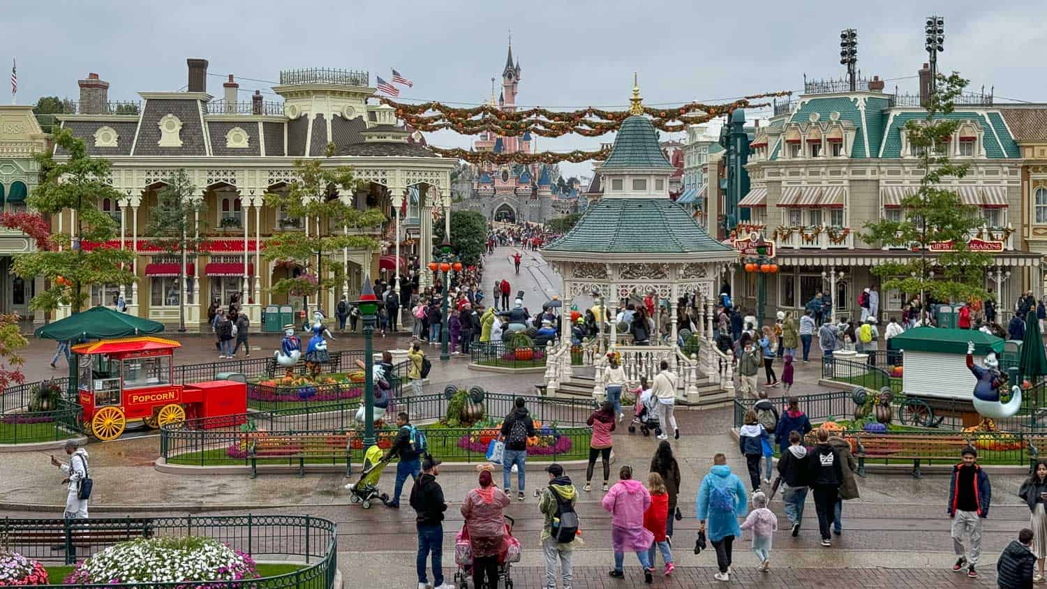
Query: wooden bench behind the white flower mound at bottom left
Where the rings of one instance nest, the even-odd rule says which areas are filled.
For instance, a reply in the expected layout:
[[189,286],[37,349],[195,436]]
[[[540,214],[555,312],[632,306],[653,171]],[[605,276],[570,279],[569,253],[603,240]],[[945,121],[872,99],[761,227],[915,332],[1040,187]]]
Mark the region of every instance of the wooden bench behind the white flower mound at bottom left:
[[[0,522],[0,538],[4,545],[22,554],[41,553],[42,546],[65,551],[65,563],[76,562],[77,547],[111,546],[138,538],[153,536],[150,519],[119,520],[31,520],[31,524]],[[36,548],[36,549],[34,549]]]

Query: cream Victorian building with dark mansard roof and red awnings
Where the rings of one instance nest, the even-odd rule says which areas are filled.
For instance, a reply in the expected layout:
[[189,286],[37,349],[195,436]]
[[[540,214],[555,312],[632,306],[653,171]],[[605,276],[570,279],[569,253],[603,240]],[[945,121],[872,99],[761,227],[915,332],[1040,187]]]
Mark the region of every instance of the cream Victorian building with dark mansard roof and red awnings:
[[[185,169],[203,203],[202,254],[188,266],[184,285],[191,327],[198,327],[211,300],[226,304],[240,293],[252,327],[263,308],[290,304],[298,297],[280,295],[269,286],[284,277],[314,272],[297,264],[265,262],[266,237],[282,231],[316,231],[310,220],[291,218],[267,207],[267,192],[286,190],[294,178],[293,163],[322,158],[324,165],[349,165],[362,180],[353,194],[337,198],[360,209],[379,207],[387,223],[365,233],[382,243],[380,251],[346,250],[342,284],[319,301],[333,313],[342,294],[354,299],[364,275],[386,270],[392,278],[406,272],[405,259],[417,253],[424,267],[431,242],[433,209],[450,205],[450,172],[456,162],[432,154],[418,134],[399,126],[395,110],[370,104],[375,93],[364,71],[328,69],[280,73],[273,91],[282,101],[265,101],[259,91],[238,99],[239,85],[230,75],[223,98],[207,93],[207,62],[187,60],[188,84],[180,92],[140,92],[138,108],[116,108],[108,101],[108,84],[91,74],[80,81],[81,99],[74,114],[60,116],[64,129],[87,143],[88,153],[112,161],[107,179],[122,196],[97,203],[119,224],[120,239],[86,247],[122,247],[137,256],[132,285],[95,285],[92,304],[111,304],[117,294],[129,312],[173,322],[179,315],[179,260],[170,258],[146,234],[149,210],[157,192],[178,169]],[[117,114],[122,112],[136,114]],[[326,157],[328,145],[334,156]],[[65,156],[61,151],[57,158]],[[2,169],[2,168],[0,168]],[[68,231],[72,214],[54,216],[55,231]],[[322,228],[335,234],[344,227]],[[397,243],[400,257],[396,257]],[[384,253],[384,255],[382,255]],[[398,270],[399,269],[399,270]],[[421,273],[422,280],[428,277]],[[310,301],[313,308],[316,301]],[[58,317],[68,313],[60,310]]]

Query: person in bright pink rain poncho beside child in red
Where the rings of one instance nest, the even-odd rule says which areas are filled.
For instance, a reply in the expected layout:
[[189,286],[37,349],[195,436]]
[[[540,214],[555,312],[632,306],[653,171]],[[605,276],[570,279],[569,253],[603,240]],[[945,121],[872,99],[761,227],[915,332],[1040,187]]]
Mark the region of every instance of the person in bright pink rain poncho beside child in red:
[[608,573],[624,579],[622,571],[625,551],[636,552],[644,568],[644,582],[652,583],[651,563],[647,550],[654,542],[654,535],[644,527],[644,513],[651,504],[651,496],[639,480],[632,478],[632,469],[622,467],[618,482],[603,496],[602,505],[610,514],[610,543],[615,548],[615,568]]

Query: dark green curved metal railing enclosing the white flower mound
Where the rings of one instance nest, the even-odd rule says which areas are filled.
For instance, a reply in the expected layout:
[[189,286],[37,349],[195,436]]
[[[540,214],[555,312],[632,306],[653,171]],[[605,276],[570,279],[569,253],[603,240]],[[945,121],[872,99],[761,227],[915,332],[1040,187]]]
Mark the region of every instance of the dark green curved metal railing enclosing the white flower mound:
[[[288,561],[304,568],[279,576],[223,581],[233,589],[330,589],[338,569],[338,536],[332,521],[312,516],[185,516],[175,518],[91,518],[0,520],[6,547],[43,563],[71,565],[113,544],[135,538],[208,537],[254,560]],[[61,546],[61,550],[54,548]],[[71,587],[60,585],[43,587]],[[215,582],[77,585],[122,589],[214,588]],[[40,587],[40,586],[38,586]]]

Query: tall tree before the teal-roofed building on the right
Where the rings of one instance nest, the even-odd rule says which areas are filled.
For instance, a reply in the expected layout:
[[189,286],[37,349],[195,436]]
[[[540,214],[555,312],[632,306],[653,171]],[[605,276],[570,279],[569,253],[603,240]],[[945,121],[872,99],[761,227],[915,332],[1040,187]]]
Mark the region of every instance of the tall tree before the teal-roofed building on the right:
[[[963,178],[970,168],[965,163],[950,161],[948,151],[950,137],[960,123],[948,116],[966,84],[956,72],[948,77],[938,75],[937,90],[925,105],[927,116],[905,126],[906,137],[923,171],[919,188],[901,199],[898,221],[867,223],[862,235],[868,243],[900,246],[919,253],[908,262],[881,264],[871,271],[885,289],[918,292],[923,305],[928,293],[953,302],[988,296],[983,280],[993,256],[967,249],[968,236],[984,220],[977,207],[964,205],[956,190],[942,186],[943,179]],[[952,244],[952,248],[932,252],[931,246],[939,244]]]

